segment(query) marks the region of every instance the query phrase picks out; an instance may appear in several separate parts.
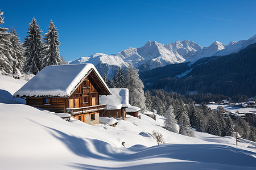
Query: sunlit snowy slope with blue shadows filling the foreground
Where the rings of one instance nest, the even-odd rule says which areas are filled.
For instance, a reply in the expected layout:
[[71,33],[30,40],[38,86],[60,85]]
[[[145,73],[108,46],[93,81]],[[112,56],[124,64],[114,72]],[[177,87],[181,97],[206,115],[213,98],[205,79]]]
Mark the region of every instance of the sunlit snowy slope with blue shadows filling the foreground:
[[[0,169],[256,169],[256,143],[195,132],[196,138],[162,128],[141,114],[88,125],[24,105],[12,95],[24,80],[0,75]],[[152,131],[163,134],[157,145]],[[124,142],[124,145],[122,143]]]

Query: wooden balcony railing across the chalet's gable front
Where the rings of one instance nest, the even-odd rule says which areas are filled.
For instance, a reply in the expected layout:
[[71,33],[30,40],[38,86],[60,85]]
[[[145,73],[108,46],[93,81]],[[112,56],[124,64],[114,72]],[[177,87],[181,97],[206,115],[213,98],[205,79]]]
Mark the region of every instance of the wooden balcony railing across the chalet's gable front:
[[105,109],[106,109],[106,104],[99,104],[99,105],[93,105],[93,106],[82,107],[82,108],[67,108],[66,113],[69,113],[71,114],[71,116],[73,116],[76,114],[85,114],[85,113],[103,111]]

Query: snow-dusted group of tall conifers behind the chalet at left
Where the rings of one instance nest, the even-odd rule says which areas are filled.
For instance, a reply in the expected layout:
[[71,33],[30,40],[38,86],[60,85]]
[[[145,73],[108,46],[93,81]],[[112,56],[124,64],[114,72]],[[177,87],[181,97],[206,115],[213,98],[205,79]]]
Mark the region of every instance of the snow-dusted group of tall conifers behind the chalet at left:
[[[2,11],[0,24],[3,24],[1,15]],[[42,30],[33,18],[29,24],[28,36],[22,44],[14,28],[0,27],[0,74],[37,74],[45,66],[65,63],[64,58],[60,56],[59,34],[52,20],[48,29],[43,38]]]

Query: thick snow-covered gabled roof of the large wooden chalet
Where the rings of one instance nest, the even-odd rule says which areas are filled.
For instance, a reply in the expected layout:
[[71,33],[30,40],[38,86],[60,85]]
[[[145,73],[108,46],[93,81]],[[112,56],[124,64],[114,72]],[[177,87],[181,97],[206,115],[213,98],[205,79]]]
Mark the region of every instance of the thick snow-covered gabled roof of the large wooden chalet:
[[99,94],[110,95],[110,90],[97,69],[91,63],[86,63],[44,67],[22,88],[16,91],[14,97],[68,97],[90,73],[100,82],[99,86],[102,86]]

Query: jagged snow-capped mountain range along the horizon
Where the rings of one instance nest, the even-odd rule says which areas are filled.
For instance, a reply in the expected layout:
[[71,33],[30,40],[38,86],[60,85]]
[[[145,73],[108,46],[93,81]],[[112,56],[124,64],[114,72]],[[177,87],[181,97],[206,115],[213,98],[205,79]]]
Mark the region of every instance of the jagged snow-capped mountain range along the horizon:
[[188,40],[170,44],[147,41],[141,48],[130,47],[117,55],[95,53],[89,57],[77,58],[69,63],[93,63],[98,70],[101,70],[100,74],[108,73],[109,78],[112,78],[118,67],[126,69],[129,63],[133,63],[136,68],[145,71],[172,63],[195,62],[203,57],[225,56],[239,52],[255,42],[256,35],[248,40],[230,41],[228,45],[215,41],[208,47],[201,47],[199,44]]

